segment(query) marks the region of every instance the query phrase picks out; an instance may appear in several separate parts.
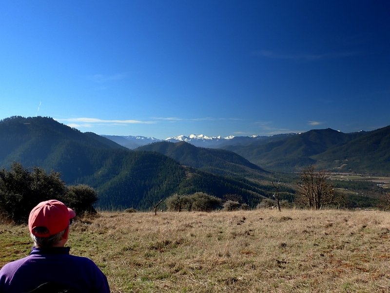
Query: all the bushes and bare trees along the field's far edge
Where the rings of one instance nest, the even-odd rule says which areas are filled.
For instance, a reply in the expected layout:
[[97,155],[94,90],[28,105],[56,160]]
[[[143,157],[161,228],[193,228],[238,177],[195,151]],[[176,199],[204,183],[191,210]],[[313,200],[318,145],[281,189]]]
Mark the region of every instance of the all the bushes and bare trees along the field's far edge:
[[[273,183],[273,182],[272,182]],[[279,202],[281,183],[273,183],[274,193],[264,197],[257,205],[258,208],[291,206],[286,200]],[[228,190],[228,189],[227,189]],[[270,192],[271,193],[271,192]],[[238,193],[226,193],[223,196],[215,196],[206,192],[195,191],[193,193],[175,193],[160,197],[158,203],[154,203],[153,197],[146,194],[144,200],[149,201],[157,212],[157,207],[163,202],[171,211],[212,211],[216,209],[237,210],[249,209],[247,197]],[[390,209],[390,196],[387,196],[382,209]],[[47,173],[39,167],[24,168],[20,163],[13,163],[10,170],[0,170],[0,220],[8,219],[15,223],[23,223],[28,219],[30,210],[39,202],[57,199],[74,209],[78,215],[85,212],[96,212],[93,205],[98,200],[97,192],[88,185],[66,186],[61,180],[60,173],[51,171]],[[335,191],[331,181],[324,171],[315,171],[313,166],[307,167],[299,174],[296,182],[296,195],[293,205],[298,208],[322,209],[348,208],[344,196]]]

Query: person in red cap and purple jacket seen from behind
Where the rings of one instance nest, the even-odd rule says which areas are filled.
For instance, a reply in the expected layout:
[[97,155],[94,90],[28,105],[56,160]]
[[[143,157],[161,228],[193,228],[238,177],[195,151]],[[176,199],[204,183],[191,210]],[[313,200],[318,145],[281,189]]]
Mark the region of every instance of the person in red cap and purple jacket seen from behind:
[[54,292],[39,291],[53,284],[66,288],[60,292],[110,292],[98,266],[89,258],[69,254],[65,247],[75,216],[58,200],[41,202],[31,210],[28,228],[34,247],[30,255],[1,268],[1,293]]

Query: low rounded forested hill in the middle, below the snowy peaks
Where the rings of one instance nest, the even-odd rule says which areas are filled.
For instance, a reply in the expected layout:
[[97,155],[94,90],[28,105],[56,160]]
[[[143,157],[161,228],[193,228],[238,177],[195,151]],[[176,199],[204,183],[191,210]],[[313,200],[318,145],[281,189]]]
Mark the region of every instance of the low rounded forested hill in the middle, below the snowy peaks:
[[175,159],[182,165],[232,176],[261,177],[269,171],[252,164],[240,155],[223,149],[196,147],[186,142],[159,142],[141,146],[135,151],[156,151]]

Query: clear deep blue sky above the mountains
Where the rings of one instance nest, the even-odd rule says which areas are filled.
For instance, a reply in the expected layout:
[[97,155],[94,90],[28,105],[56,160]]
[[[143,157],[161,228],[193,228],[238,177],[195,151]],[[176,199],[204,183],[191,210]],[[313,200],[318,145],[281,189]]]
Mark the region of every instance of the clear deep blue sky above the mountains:
[[390,2],[0,0],[0,119],[97,134],[390,125]]

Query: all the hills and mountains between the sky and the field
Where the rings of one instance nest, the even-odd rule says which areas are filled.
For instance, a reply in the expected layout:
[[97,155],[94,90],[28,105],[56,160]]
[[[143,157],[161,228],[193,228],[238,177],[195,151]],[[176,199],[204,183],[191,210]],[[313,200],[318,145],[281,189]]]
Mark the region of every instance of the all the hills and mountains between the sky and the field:
[[[147,138],[141,139],[145,144]],[[128,139],[116,140],[125,144]],[[390,174],[390,126],[348,134],[320,129],[217,138],[212,144],[219,149],[160,141],[131,150],[118,143],[51,118],[11,117],[0,121],[0,167],[19,162],[26,168],[54,170],[67,185],[95,188],[97,208],[142,210],[175,193],[195,192],[235,196],[255,207],[264,197],[273,196],[272,181],[294,180],[293,173],[274,171],[300,171],[312,164],[337,172]],[[207,143],[203,137],[202,144]],[[281,199],[292,201],[295,191],[289,186],[279,191]]]

